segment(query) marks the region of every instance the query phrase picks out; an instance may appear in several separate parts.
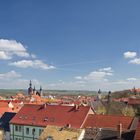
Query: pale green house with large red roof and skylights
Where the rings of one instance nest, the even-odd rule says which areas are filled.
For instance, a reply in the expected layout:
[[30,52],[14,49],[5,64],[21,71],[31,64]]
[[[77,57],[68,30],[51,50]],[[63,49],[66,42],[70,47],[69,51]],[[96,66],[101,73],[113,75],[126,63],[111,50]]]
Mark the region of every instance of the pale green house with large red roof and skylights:
[[82,128],[90,107],[61,105],[24,105],[10,122],[12,140],[37,140],[46,126]]

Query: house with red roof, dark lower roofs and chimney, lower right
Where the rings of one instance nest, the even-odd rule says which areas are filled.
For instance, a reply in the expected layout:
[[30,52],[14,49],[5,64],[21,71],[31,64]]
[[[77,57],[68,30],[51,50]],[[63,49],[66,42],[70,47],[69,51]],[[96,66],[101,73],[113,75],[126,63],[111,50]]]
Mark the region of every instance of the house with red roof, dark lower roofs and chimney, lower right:
[[112,140],[122,137],[123,140],[133,140],[138,119],[116,115],[89,114],[84,124],[83,140]]

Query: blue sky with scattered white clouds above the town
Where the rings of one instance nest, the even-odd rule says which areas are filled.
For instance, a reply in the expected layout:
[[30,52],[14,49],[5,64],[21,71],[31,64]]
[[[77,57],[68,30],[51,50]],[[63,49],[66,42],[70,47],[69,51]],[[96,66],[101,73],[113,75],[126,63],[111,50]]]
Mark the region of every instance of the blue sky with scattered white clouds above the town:
[[140,87],[139,0],[0,1],[0,88]]

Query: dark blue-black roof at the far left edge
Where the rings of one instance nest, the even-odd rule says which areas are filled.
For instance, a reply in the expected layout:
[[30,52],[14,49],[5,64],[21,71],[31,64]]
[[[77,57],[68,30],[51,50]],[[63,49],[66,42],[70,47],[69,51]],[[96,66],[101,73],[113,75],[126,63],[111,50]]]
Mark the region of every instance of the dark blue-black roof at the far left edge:
[[9,122],[15,115],[16,113],[13,112],[5,112],[0,118],[0,128],[4,129],[4,131],[10,131]]

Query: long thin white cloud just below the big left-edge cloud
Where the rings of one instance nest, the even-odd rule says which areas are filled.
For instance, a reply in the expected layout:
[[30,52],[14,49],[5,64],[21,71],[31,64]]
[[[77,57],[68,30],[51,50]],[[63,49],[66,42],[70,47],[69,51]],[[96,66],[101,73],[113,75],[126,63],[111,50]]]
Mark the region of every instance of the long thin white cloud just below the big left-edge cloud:
[[20,67],[20,68],[30,67],[30,68],[44,69],[44,70],[55,69],[54,66],[48,65],[42,62],[41,60],[21,60],[21,61],[10,63],[9,65]]

